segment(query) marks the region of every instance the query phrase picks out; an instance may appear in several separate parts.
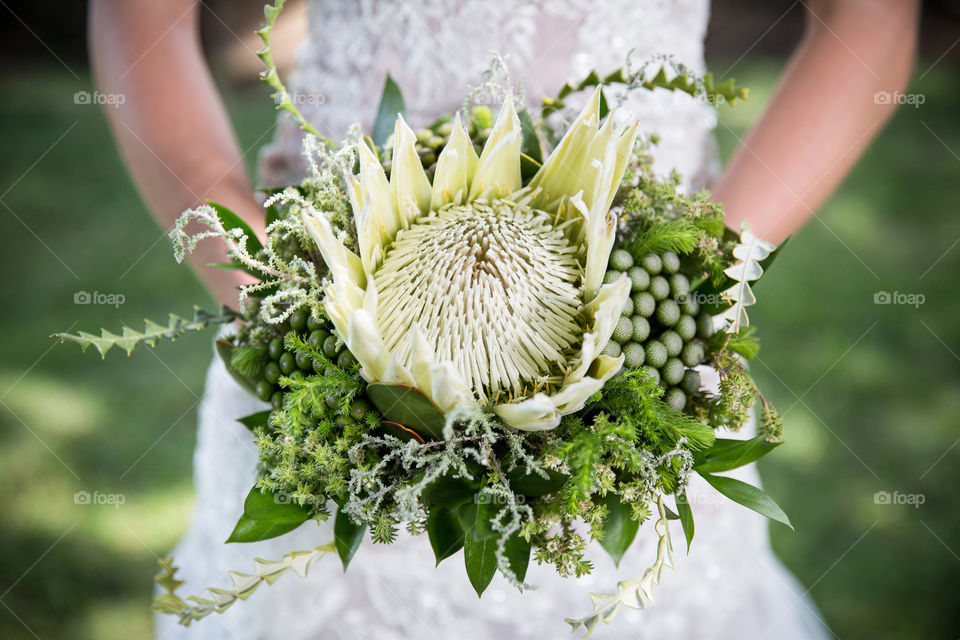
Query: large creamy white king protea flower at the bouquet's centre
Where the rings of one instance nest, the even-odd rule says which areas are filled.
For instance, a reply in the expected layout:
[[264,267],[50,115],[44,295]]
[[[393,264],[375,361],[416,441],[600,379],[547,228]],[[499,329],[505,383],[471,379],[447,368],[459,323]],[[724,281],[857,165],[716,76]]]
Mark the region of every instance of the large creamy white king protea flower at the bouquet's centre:
[[603,284],[610,205],[636,125],[603,126],[600,93],[524,187],[508,97],[482,153],[454,121],[433,184],[401,117],[390,179],[359,145],[348,176],[360,255],[326,216],[303,214],[330,269],[324,305],[370,382],[406,384],[442,411],[489,406],[506,424],[552,429],[619,370],[602,355],[630,293]]

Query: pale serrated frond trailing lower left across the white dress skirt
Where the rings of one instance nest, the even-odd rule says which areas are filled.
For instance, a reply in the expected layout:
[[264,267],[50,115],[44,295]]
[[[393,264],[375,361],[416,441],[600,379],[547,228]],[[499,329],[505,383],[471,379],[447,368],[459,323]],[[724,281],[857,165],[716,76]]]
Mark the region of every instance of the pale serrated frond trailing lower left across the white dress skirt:
[[273,584],[290,569],[301,578],[306,578],[310,565],[328,553],[336,553],[333,540],[310,551],[286,553],[278,561],[256,558],[253,561],[252,574],[230,572],[233,583],[231,589],[211,587],[207,589],[211,598],[188,596],[186,600],[176,594],[183,581],[176,579],[177,568],[173,566],[173,558],[168,557],[160,561],[160,573],[155,578],[164,593],[154,598],[152,609],[160,613],[175,614],[179,616],[180,624],[189,627],[194,620],[206,618],[211,613],[223,613],[237,600],[246,600],[261,584]]

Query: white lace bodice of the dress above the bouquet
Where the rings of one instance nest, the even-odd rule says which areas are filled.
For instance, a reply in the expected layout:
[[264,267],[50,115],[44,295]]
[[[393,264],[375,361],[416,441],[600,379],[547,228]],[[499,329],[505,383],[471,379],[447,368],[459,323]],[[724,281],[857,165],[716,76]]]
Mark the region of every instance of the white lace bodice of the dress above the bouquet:
[[[670,55],[702,72],[708,15],[707,0],[314,0],[310,39],[298,51],[289,89],[307,119],[339,139],[355,122],[370,131],[389,72],[404,92],[411,125],[422,127],[459,108],[493,52],[506,57],[531,106],[591,70],[622,67],[628,54],[635,63]],[[677,169],[689,184],[706,182],[715,126],[709,105],[658,90],[624,106],[624,117],[660,135],[659,170]],[[302,176],[300,138],[283,118],[263,154],[265,186]]]

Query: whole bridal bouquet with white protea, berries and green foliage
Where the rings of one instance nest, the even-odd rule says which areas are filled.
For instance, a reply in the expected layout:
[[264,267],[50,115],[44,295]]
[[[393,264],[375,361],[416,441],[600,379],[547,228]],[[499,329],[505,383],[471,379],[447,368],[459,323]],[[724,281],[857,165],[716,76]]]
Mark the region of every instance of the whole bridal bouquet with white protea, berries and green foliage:
[[[592,631],[621,605],[652,600],[672,566],[669,520],[690,544],[691,474],[789,526],[760,489],[715,475],[779,443],[780,419],[744,366],[758,349],[751,283],[776,248],[727,229],[720,206],[684,195],[678,176],[658,178],[655,137],[619,127],[608,108],[612,87],[621,98],[670,89],[713,102],[745,91],[664,63],[656,74],[591,74],[535,113],[491,74],[460,112],[414,131],[388,78],[371,137],[354,130],[337,145],[276,73],[278,11],[267,8],[260,32],[264,78],[309,134],[309,175],[268,194],[264,244],[213,203],[171,232],[178,260],[203,239],[226,244],[230,262],[216,266],[256,279],[241,287],[239,311],[60,337],[129,353],[229,325],[219,354],[269,406],[241,419],[260,475],[227,542],[331,517],[334,539],[256,560],[209,597],[177,595],[167,559],[155,607],[189,624],[323,556],[346,568],[365,537],[389,544],[399,527],[426,534],[437,562],[462,550],[477,594],[497,572],[525,589],[531,558],[581,576],[590,541],[619,562],[652,521],[646,573],[591,594],[592,612],[569,620]],[[494,115],[476,98],[498,86]],[[580,91],[592,95],[570,121],[565,99]],[[709,369],[718,386],[702,384]],[[757,437],[717,436],[747,421],[758,398]]]

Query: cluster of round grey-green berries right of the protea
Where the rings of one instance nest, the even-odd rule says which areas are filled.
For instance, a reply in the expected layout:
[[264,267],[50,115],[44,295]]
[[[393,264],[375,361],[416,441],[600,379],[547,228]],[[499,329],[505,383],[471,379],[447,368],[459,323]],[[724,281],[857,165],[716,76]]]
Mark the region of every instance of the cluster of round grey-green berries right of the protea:
[[604,353],[624,356],[624,367],[642,369],[664,388],[664,400],[682,411],[700,388],[694,369],[706,358],[702,338],[713,332],[710,315],[690,295],[690,281],[680,272],[680,258],[667,251],[635,259],[629,251],[610,254],[604,282],[626,274],[630,299]]

